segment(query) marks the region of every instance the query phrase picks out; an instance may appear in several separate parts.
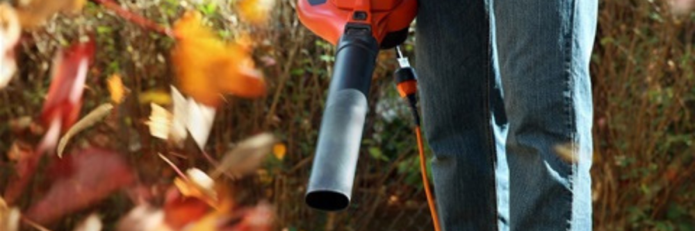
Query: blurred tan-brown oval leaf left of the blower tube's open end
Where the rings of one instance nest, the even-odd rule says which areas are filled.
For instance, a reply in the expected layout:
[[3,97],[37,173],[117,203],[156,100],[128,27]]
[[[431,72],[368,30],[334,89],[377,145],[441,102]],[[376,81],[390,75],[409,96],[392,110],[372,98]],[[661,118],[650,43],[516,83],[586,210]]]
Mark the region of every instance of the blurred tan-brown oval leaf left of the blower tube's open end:
[[275,137],[270,135],[270,133],[263,133],[245,139],[234,150],[224,155],[220,166],[217,166],[210,174],[211,177],[218,178],[223,173],[233,177],[254,173],[261,165],[265,156],[272,151],[274,144]]

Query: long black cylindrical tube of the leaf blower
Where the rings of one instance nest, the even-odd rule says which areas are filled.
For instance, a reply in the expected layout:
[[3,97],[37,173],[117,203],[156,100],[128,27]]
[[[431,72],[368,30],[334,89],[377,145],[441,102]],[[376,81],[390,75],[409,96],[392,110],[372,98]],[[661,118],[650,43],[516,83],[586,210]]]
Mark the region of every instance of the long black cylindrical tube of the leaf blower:
[[379,45],[368,26],[346,26],[336,47],[333,78],[306,191],[310,207],[337,211],[350,204],[378,52]]

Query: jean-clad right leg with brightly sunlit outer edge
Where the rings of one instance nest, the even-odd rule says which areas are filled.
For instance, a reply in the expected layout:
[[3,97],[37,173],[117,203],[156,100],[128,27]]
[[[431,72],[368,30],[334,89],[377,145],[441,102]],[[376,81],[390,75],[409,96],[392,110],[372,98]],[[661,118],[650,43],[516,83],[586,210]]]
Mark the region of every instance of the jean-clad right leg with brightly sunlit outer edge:
[[591,230],[596,0],[496,0],[512,230]]

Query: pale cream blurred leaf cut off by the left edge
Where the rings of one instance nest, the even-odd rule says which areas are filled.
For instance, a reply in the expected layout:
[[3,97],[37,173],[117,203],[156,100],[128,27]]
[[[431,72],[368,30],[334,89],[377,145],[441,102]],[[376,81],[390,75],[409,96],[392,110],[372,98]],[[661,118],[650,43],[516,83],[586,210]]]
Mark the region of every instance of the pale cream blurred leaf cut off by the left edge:
[[17,71],[13,49],[21,32],[17,12],[8,3],[0,3],[0,89],[10,83]]

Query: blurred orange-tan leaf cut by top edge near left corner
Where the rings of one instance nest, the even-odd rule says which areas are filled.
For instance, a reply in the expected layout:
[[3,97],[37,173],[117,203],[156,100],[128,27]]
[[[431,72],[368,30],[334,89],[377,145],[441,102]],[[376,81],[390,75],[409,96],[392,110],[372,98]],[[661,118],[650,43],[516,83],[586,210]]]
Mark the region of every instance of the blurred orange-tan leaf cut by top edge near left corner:
[[24,28],[36,28],[58,12],[74,13],[84,6],[86,0],[24,0],[19,1],[19,21]]

